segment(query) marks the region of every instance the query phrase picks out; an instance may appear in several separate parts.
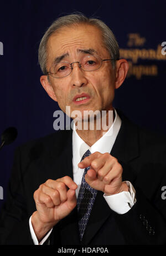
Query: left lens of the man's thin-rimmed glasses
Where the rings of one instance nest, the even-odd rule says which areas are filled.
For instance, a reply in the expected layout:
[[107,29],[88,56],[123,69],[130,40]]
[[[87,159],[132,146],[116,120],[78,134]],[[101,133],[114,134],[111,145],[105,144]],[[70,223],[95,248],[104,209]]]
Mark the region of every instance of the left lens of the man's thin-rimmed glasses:
[[53,77],[66,77],[71,72],[71,67],[69,62],[59,62],[51,67],[50,72]]

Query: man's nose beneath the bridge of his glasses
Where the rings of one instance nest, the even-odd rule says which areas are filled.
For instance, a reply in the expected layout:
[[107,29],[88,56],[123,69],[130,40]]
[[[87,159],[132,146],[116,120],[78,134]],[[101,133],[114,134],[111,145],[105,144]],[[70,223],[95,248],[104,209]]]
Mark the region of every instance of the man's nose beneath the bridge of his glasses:
[[79,62],[72,63],[72,86],[81,87],[87,84],[84,71],[80,68]]

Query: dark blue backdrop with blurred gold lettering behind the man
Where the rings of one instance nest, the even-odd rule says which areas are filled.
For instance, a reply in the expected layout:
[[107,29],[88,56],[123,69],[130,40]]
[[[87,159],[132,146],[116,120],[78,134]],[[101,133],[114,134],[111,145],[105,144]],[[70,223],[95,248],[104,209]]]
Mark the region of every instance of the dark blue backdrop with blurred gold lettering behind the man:
[[62,14],[79,11],[106,22],[130,66],[128,78],[116,91],[115,107],[139,126],[166,133],[164,0],[11,0],[1,1],[0,10],[0,133],[9,126],[18,129],[17,140],[0,152],[4,199],[15,147],[54,132],[58,104],[40,85],[38,46],[46,28]]

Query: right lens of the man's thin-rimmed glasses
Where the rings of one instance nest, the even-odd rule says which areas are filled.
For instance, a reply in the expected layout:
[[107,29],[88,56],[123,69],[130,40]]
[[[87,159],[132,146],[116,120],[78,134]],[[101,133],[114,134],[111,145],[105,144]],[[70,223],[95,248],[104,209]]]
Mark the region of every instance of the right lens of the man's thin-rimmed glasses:
[[101,66],[101,59],[97,56],[85,56],[81,60],[81,68],[84,71],[94,71]]

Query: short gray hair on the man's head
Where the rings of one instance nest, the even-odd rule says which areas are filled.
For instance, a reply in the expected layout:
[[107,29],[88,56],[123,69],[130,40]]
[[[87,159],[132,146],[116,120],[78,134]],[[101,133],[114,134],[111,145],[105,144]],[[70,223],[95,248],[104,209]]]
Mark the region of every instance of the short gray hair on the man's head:
[[[104,22],[97,18],[87,18],[82,13],[69,14],[56,19],[45,32],[40,42],[38,57],[40,68],[42,69],[44,74],[47,73],[47,43],[49,37],[58,29],[62,27],[70,27],[74,24],[89,24],[92,26],[96,26],[98,29],[100,29],[102,33],[103,43],[105,44],[107,51],[110,53],[111,58],[113,60],[120,58],[120,49],[116,41],[116,38],[113,35],[111,29],[108,28],[108,26]],[[113,67],[115,67],[115,61],[112,61],[112,65]]]

